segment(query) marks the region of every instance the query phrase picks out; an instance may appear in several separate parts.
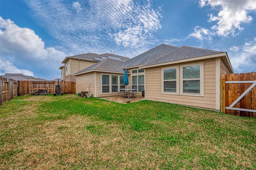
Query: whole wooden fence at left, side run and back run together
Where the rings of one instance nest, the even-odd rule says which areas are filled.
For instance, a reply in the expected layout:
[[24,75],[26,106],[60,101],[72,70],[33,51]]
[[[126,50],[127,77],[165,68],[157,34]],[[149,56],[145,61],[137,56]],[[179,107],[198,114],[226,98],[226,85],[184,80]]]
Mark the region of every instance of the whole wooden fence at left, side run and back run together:
[[[18,95],[33,94],[37,90],[47,90],[47,94],[55,92],[58,82],[54,81],[17,81],[0,76],[0,106]],[[59,82],[61,92],[64,94],[75,94],[75,82]]]

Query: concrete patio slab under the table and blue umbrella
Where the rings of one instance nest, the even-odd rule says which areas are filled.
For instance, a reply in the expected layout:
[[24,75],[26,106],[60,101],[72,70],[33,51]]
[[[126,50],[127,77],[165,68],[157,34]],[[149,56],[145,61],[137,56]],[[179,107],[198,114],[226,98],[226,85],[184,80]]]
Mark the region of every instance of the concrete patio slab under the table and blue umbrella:
[[[142,97],[141,94],[137,94],[136,98],[129,97],[130,103],[139,102],[140,100],[144,100],[144,98],[145,97]],[[104,99],[104,100],[108,100],[108,101],[112,101],[112,102],[118,102],[118,103],[126,104],[126,99],[128,99],[128,98],[124,98],[124,95],[120,94],[117,97],[115,95],[115,96],[102,97],[100,99]]]

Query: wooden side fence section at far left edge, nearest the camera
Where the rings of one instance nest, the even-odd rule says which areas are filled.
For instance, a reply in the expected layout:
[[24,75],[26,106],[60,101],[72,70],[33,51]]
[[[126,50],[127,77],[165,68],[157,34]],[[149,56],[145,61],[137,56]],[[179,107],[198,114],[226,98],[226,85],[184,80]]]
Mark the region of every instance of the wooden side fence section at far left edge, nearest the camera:
[[17,81],[0,76],[0,106],[17,96]]

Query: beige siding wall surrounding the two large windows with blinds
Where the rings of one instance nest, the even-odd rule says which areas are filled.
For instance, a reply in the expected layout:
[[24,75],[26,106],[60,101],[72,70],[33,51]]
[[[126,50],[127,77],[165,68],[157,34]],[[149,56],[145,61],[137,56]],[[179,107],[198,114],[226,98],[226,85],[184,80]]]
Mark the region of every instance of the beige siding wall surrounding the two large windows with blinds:
[[[196,61],[202,62],[202,61]],[[195,62],[195,63],[196,63]],[[215,109],[215,59],[204,60],[204,96],[162,94],[162,67],[146,68],[146,100]],[[193,63],[193,62],[189,62]],[[188,63],[180,63],[188,64]],[[169,65],[176,66],[176,65]],[[179,84],[180,86],[180,84]],[[181,86],[180,86],[181,87]]]

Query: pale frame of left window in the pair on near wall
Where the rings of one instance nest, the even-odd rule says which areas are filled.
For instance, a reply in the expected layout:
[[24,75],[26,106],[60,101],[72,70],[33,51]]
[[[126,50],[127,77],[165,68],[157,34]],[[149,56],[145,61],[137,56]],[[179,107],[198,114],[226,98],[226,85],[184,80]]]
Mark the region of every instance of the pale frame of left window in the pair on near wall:
[[[165,69],[172,69],[172,68],[176,68],[176,92],[164,92],[164,70]],[[180,93],[180,69],[179,69],[179,65],[176,66],[168,66],[168,67],[162,67],[162,94],[174,94],[174,95],[178,95]],[[170,81],[170,80],[166,80],[166,81]]]

